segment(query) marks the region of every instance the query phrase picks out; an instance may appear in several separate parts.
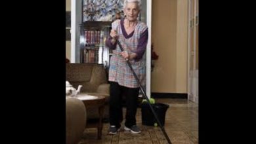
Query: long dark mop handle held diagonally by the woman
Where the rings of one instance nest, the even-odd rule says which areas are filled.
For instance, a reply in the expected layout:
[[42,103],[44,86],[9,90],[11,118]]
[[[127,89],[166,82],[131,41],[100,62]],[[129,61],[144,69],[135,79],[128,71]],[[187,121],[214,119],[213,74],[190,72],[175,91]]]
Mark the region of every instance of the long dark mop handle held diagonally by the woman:
[[[117,42],[117,45],[120,47],[121,51],[123,52],[123,47],[121,46],[121,43],[118,41],[117,38],[116,38],[116,42]],[[163,135],[165,135],[165,138],[167,139],[168,143],[171,144],[171,140],[169,139],[169,137],[168,137],[168,135],[166,134],[166,132],[165,132],[163,126],[161,125],[160,120],[158,119],[158,116],[156,115],[156,112],[154,111],[154,109],[153,109],[153,107],[152,107],[152,105],[151,105],[151,103],[150,103],[150,100],[149,100],[148,97],[146,96],[146,93],[145,93],[144,89],[142,88],[142,85],[140,84],[140,81],[139,81],[139,79],[138,79],[138,77],[137,77],[135,71],[133,70],[133,67],[131,67],[130,61],[129,61],[128,59],[125,59],[125,60],[126,60],[126,62],[128,63],[128,65],[129,65],[131,71],[133,72],[133,76],[135,77],[136,81],[138,82],[138,84],[139,84],[139,86],[140,86],[140,90],[141,90],[141,92],[142,92],[142,95],[144,96],[144,98],[146,99],[146,101],[148,101],[148,104],[149,104],[149,106],[150,106],[150,109],[152,110],[152,113],[154,114],[154,117],[156,118],[156,121],[158,122],[158,125],[160,126],[161,131],[163,132]]]

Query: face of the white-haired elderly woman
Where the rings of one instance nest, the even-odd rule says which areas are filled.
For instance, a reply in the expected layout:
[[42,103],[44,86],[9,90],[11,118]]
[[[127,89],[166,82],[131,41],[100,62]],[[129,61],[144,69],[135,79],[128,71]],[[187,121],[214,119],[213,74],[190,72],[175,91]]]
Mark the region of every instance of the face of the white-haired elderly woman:
[[137,20],[140,10],[137,3],[127,3],[124,12],[126,14],[127,20],[135,21]]

